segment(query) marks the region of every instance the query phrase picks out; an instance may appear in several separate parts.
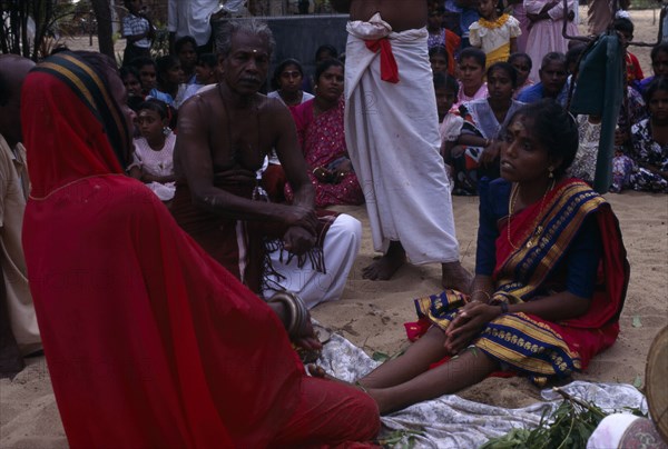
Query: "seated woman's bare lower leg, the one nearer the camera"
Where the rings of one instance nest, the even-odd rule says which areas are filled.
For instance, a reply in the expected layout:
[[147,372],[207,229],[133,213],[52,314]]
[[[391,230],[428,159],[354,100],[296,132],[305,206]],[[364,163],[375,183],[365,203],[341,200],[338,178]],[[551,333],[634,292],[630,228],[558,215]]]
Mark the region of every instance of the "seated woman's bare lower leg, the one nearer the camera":
[[379,405],[381,415],[386,415],[416,402],[460,391],[482,381],[498,369],[499,363],[484,352],[466,349],[449,362],[422,372],[404,383],[389,388],[370,388],[367,392]]

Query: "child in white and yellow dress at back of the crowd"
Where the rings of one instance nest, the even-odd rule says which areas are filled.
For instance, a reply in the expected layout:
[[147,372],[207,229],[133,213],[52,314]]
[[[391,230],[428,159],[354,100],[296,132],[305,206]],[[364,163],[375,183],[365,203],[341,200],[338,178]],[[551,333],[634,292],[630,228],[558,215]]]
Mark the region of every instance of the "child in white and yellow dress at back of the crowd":
[[480,0],[478,12],[480,19],[469,29],[471,46],[484,51],[488,67],[508,61],[510,53],[518,50],[520,22],[509,14],[499,16],[494,0]]

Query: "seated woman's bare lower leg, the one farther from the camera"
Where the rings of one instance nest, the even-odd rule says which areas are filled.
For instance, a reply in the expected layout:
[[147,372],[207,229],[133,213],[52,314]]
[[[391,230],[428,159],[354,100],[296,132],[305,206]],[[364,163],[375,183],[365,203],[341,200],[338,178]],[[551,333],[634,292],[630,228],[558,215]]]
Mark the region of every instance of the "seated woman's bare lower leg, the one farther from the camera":
[[375,370],[360,379],[364,388],[389,388],[413,379],[429,367],[448,356],[443,343],[445,333],[432,326],[420,340],[406,349],[396,359],[387,360]]

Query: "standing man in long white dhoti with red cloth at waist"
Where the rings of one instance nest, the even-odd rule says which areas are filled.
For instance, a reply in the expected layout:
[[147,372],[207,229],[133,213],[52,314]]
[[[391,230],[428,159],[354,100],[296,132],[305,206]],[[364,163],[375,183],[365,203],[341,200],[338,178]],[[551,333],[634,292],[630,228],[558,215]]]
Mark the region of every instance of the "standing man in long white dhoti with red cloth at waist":
[[350,12],[345,137],[366,198],[373,243],[384,256],[366,279],[406,261],[441,262],[442,283],[469,291],[459,261],[450,182],[426,49],[426,0],[332,0]]

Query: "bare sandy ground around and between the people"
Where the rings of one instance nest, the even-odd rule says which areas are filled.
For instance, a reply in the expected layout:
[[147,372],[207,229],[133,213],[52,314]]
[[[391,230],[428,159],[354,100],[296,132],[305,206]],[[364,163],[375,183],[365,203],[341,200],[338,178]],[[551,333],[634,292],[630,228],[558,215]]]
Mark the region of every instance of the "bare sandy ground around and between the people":
[[[582,16],[584,17],[584,16]],[[656,39],[658,24],[652,11],[632,11],[636,39]],[[658,17],[658,13],[657,13]],[[81,41],[77,42],[76,47]],[[122,46],[120,46],[122,48]],[[649,50],[631,49],[651,74]],[[621,335],[617,343],[591,362],[576,379],[603,382],[641,382],[649,345],[668,322],[668,196],[625,192],[607,194],[621,222],[631,263],[631,282],[621,316]],[[394,353],[406,345],[402,323],[414,320],[411,299],[439,291],[440,267],[406,266],[391,281],[362,279],[361,269],[376,253],[373,251],[369,221],[363,207],[340,208],[363,221],[364,239],[360,256],[347,280],[343,298],[318,306],[313,316],[338,331],[370,355]],[[454,198],[458,238],[462,262],[472,270],[475,259],[478,222],[477,198]],[[13,380],[0,380],[0,447],[67,447],[43,357],[30,359],[29,366]],[[522,407],[539,400],[539,390],[522,378],[488,379],[460,396],[502,407]]]

